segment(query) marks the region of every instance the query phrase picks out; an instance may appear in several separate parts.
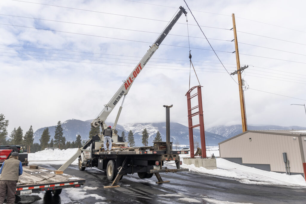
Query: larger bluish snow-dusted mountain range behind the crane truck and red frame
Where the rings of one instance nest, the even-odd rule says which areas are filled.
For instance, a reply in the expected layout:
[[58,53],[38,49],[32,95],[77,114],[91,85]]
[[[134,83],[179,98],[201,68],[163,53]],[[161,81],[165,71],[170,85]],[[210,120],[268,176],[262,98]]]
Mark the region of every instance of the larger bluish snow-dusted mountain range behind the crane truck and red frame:
[[[68,120],[62,123],[63,133],[66,141],[75,141],[76,135],[80,134],[82,139],[88,139],[90,131],[90,122],[80,121],[80,120]],[[107,123],[113,126],[113,123]],[[54,138],[55,126],[48,127],[50,132],[50,139]],[[34,142],[39,143],[39,139],[43,133],[44,128],[39,128],[34,133]],[[135,123],[135,124],[125,124],[123,126],[117,124],[116,129],[118,130],[118,135],[121,136],[122,132],[125,132],[125,137],[127,138],[128,133],[132,130],[134,134],[134,139],[136,146],[142,146],[142,131],[144,128],[147,129],[149,134],[149,145],[153,145],[153,140],[156,136],[157,131],[160,132],[163,141],[166,141],[166,123]],[[194,140],[200,143],[200,130],[194,129]],[[225,140],[221,135],[214,134],[211,132],[205,132],[206,143],[209,146],[218,145],[219,142]],[[188,127],[179,123],[170,123],[170,138],[175,143],[178,141],[180,145],[189,145]]]

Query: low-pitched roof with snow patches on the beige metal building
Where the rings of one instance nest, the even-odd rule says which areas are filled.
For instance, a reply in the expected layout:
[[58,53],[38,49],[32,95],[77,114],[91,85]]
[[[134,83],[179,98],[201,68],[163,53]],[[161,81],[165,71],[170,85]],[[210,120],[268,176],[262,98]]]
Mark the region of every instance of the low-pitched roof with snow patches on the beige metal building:
[[306,130],[248,130],[246,132],[242,132],[240,133],[239,135],[235,135],[229,139],[226,139],[220,143],[218,143],[218,145],[226,142],[226,141],[229,141],[231,139],[234,139],[236,137],[239,137],[240,135],[243,135],[245,133],[248,133],[248,132],[255,132],[255,133],[263,133],[263,134],[274,134],[274,135],[289,135],[289,136],[306,136]]

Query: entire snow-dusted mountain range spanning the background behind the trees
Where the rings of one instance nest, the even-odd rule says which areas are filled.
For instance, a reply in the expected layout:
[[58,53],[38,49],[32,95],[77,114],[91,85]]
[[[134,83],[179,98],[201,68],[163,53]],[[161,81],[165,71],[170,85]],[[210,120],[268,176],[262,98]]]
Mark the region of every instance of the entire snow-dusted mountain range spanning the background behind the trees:
[[[89,131],[90,131],[90,122],[88,121],[80,121],[76,119],[68,120],[62,123],[63,133],[66,138],[66,141],[75,141],[76,135],[81,135],[82,139],[88,139]],[[108,122],[108,125],[113,126],[114,123]],[[54,138],[55,126],[48,127],[50,132],[50,139]],[[39,143],[39,139],[43,133],[44,128],[39,128],[34,133],[34,142]],[[156,136],[157,131],[160,132],[162,140],[166,141],[166,123],[134,123],[134,124],[125,124],[119,125],[117,124],[116,129],[118,130],[118,135],[121,136],[122,132],[125,132],[125,137],[129,134],[129,131],[132,130],[134,134],[134,139],[136,146],[142,146],[142,131],[144,128],[147,129],[149,134],[149,145],[153,145],[153,140]],[[251,126],[248,125],[249,130],[288,130],[288,129],[296,129],[302,130],[306,129],[305,127],[299,126],[276,126],[276,125],[264,125],[264,126]],[[238,135],[242,132],[241,125],[231,125],[231,126],[215,126],[212,128],[205,129],[205,140],[206,146],[216,146],[219,142],[226,140],[232,136]],[[194,141],[200,143],[200,130],[193,129]],[[170,123],[170,140],[174,143],[179,143],[180,145],[189,145],[189,133],[188,127],[179,123]]]

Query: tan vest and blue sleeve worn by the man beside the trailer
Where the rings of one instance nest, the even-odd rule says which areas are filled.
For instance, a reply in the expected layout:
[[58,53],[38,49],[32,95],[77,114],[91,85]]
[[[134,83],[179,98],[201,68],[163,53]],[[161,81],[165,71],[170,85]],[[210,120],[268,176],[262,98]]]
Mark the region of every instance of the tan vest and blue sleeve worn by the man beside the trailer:
[[21,161],[15,158],[5,160],[0,173],[0,180],[18,181],[19,176],[22,174]]

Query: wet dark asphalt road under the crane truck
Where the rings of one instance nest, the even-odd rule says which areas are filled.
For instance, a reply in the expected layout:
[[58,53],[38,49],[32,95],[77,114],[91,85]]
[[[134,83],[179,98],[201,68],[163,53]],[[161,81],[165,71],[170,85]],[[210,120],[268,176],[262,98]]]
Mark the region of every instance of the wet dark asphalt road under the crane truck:
[[[47,169],[60,167],[40,166]],[[120,187],[107,189],[103,186],[111,183],[105,172],[98,169],[79,171],[76,165],[70,165],[65,173],[86,179],[86,184],[81,188],[87,186],[96,189],[82,191],[77,188],[78,191],[74,191],[69,188],[59,196],[40,193],[43,199],[34,203],[306,203],[306,188],[243,184],[234,179],[196,172],[161,173],[163,180],[170,180],[170,183],[164,184],[156,184],[155,176],[139,179],[137,174],[127,175],[118,183]],[[98,196],[96,199],[95,195],[103,198]]]

